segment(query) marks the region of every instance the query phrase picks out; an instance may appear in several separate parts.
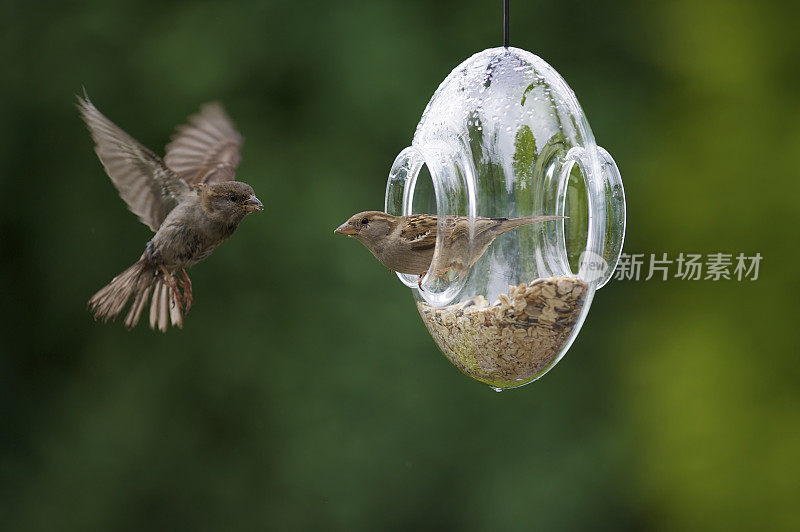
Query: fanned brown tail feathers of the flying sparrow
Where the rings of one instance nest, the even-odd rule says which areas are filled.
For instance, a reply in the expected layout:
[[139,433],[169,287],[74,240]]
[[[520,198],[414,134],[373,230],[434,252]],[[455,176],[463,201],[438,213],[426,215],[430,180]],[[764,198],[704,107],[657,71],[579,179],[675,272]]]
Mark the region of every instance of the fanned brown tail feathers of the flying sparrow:
[[183,327],[183,311],[177,304],[175,290],[178,288],[167,286],[152,265],[139,260],[92,296],[89,311],[96,320],[113,320],[133,298],[125,317],[125,326],[132,329],[139,323],[152,291],[150,327],[166,332],[170,322]]

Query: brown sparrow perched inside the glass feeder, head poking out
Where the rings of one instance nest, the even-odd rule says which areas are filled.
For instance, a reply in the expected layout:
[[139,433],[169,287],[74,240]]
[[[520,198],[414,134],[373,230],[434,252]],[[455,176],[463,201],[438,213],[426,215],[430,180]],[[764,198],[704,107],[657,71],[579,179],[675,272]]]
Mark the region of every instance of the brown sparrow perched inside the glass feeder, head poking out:
[[[549,222],[566,216],[529,216],[526,218],[479,218],[471,227],[466,216],[446,216],[444,219],[446,253],[439,261],[443,276],[448,270],[470,268],[486,252],[489,244],[507,231],[538,222]],[[433,260],[438,218],[432,214],[393,216],[380,211],[354,214],[334,233],[350,235],[364,244],[381,263],[400,273],[422,277]],[[470,239],[472,234],[472,239]],[[466,251],[469,250],[469,253]],[[464,257],[467,264],[464,264]]]

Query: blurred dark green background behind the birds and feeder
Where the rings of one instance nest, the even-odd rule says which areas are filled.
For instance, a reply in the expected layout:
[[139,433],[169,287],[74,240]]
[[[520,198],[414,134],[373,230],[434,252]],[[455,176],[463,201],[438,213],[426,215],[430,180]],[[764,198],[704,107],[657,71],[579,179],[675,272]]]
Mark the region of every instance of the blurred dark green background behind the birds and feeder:
[[[512,3],[628,198],[629,253],[764,256],[755,282],[612,282],[541,381],[495,393],[333,228],[381,208],[500,1],[5,2],[3,530],[798,530],[797,11]],[[166,335],[88,297],[150,238],[73,95],[161,151],[219,99],[267,210]]]

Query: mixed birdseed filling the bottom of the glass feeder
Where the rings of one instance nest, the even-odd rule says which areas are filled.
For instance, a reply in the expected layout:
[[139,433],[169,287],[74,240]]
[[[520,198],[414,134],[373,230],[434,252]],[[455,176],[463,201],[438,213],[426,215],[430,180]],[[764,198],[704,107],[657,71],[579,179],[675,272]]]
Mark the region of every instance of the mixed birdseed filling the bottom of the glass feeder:
[[509,286],[491,305],[481,295],[447,307],[420,301],[417,308],[450,362],[474,379],[508,388],[530,382],[555,361],[587,288],[574,277],[551,277]]

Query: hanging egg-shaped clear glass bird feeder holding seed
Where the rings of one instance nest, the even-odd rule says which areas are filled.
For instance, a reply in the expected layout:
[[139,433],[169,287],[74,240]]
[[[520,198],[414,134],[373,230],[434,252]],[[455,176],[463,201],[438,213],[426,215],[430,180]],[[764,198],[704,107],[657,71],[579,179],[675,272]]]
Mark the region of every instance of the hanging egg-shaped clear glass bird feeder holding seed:
[[564,356],[625,233],[617,165],[564,79],[518,48],[477,53],[442,82],[392,165],[385,210],[439,217],[429,272],[469,252],[448,249],[447,215],[568,217],[499,236],[471,267],[421,281],[397,274],[445,356],[497,390],[538,379]]

